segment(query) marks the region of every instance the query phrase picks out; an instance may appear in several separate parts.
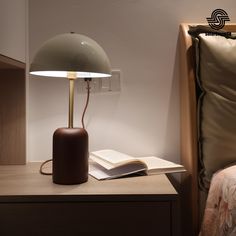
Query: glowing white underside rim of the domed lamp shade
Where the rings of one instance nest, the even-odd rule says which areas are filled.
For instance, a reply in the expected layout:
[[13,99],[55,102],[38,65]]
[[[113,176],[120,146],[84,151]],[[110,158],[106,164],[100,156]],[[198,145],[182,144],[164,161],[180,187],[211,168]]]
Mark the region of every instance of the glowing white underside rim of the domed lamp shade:
[[[48,77],[64,77],[67,78],[67,71],[31,71],[32,75],[48,76]],[[104,78],[110,77],[110,74],[95,72],[76,72],[76,78]]]

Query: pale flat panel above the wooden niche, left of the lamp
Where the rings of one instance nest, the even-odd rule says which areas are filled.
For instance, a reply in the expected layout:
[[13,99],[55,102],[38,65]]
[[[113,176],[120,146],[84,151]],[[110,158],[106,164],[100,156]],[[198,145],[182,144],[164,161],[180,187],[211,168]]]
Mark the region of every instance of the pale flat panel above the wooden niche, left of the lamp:
[[0,54],[26,62],[28,0],[0,0]]

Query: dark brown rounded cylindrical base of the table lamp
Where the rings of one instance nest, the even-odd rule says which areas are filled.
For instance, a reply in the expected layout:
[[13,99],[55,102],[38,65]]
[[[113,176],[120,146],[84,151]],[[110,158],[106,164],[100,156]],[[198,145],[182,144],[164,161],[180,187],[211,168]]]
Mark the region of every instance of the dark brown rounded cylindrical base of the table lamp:
[[53,134],[53,182],[81,184],[88,180],[88,133],[59,128]]

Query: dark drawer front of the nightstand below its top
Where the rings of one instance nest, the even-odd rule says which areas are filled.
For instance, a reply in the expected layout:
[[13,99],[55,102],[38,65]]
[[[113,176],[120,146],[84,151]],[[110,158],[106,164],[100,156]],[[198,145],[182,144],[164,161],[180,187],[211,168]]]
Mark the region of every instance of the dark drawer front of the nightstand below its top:
[[2,203],[0,222],[1,236],[170,236],[171,202]]

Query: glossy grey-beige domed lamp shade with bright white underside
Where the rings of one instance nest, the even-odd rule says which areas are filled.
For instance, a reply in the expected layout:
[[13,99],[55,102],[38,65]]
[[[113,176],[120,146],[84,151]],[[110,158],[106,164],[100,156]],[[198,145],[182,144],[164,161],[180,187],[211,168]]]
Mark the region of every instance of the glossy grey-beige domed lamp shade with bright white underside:
[[76,33],[57,35],[46,41],[36,53],[30,73],[40,76],[77,78],[111,76],[109,59],[93,39]]

